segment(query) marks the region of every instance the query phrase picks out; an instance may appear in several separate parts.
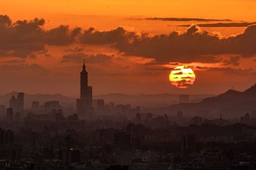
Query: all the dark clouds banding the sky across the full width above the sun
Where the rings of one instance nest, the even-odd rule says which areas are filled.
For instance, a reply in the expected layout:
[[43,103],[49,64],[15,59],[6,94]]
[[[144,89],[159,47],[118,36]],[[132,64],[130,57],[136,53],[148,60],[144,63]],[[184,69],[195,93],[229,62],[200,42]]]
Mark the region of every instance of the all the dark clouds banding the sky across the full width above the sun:
[[[154,18],[157,19],[157,18]],[[158,18],[159,19],[159,18]],[[165,18],[166,20],[170,18]],[[203,18],[175,18],[175,20],[205,20]],[[244,32],[235,36],[220,36],[201,31],[198,25],[190,25],[184,32],[151,35],[144,32],[127,31],[117,27],[108,31],[94,28],[82,31],[76,27],[60,25],[50,30],[44,29],[45,20],[18,20],[12,22],[6,15],[0,15],[0,57],[36,57],[36,53],[47,53],[45,45],[67,46],[108,45],[124,56],[138,56],[154,59],[155,63],[168,62],[220,62],[218,55],[241,55],[251,57],[256,54],[256,25],[249,25]],[[78,45],[78,46],[80,46]],[[106,62],[108,57],[83,55],[83,48],[68,49],[71,55],[65,60],[88,58],[88,62]],[[77,55],[77,56],[74,56]],[[109,60],[108,60],[109,61]],[[225,61],[227,64],[230,61]],[[236,64],[236,62],[234,62]]]

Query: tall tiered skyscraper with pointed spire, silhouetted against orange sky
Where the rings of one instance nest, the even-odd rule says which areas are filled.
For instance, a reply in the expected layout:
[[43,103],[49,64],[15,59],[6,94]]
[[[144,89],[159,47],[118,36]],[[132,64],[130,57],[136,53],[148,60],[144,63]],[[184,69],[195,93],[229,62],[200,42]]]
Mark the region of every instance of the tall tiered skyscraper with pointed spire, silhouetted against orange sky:
[[92,86],[88,86],[88,72],[85,64],[80,73],[80,99],[76,100],[76,111],[81,118],[90,118],[93,113]]

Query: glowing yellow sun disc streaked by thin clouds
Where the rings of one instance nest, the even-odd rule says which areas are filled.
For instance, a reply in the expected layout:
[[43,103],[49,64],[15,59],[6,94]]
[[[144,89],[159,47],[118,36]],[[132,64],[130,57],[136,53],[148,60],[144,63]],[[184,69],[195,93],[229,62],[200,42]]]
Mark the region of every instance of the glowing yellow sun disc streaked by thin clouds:
[[170,73],[170,81],[172,85],[179,89],[187,89],[193,85],[196,75],[189,66],[175,67]]

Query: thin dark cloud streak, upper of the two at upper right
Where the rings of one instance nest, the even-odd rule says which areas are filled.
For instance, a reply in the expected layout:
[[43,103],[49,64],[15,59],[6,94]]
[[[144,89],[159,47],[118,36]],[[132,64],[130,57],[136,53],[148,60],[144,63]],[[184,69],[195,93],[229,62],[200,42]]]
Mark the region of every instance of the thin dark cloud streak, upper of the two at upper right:
[[202,21],[202,22],[212,22],[212,21],[232,21],[228,19],[207,19],[207,18],[144,18],[145,20],[163,20],[163,21]]

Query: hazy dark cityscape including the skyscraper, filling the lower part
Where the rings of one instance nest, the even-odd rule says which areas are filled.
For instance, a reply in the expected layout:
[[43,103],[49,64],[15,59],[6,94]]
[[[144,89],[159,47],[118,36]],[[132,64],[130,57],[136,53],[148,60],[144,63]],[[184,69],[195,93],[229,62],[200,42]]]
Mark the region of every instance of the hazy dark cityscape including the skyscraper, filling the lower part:
[[[256,110],[229,118],[209,118],[207,110],[184,115],[184,94],[171,115],[105,103],[92,98],[85,63],[82,68],[76,110],[60,101],[24,108],[24,92],[0,106],[2,169],[255,168]],[[255,96],[256,85],[251,90]],[[230,93],[236,91],[220,96]]]

